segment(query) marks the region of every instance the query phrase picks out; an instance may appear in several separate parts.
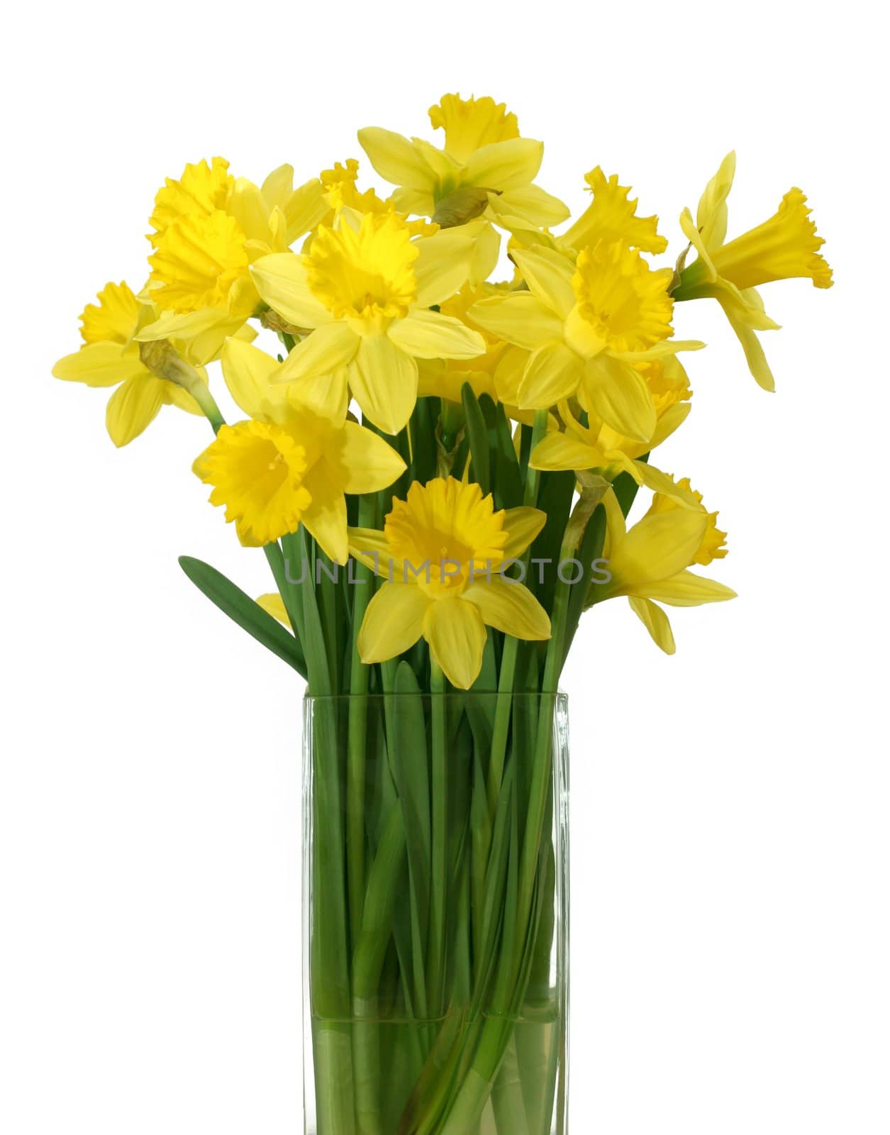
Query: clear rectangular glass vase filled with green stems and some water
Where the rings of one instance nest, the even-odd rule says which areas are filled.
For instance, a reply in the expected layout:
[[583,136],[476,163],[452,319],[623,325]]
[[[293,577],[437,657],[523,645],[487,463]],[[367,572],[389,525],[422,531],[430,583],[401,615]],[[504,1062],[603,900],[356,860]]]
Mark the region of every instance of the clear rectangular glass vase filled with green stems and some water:
[[408,684],[305,700],[307,1135],[564,1135],[566,698]]

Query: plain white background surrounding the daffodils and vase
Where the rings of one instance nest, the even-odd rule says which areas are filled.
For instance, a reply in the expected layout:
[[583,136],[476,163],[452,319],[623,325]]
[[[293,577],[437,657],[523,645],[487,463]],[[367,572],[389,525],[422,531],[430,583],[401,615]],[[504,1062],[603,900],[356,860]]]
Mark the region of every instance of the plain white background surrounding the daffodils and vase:
[[[730,235],[800,185],[836,271],[764,289],[779,393],[683,305],[689,422],[662,464],[719,507],[731,604],[662,656],[599,607],[573,696],[572,1129],[890,1132],[885,104],[864,5],[30,5],[2,183],[0,1130],[295,1135],[300,698],[176,556],[269,588],[165,410],[117,452],[50,378],[107,280],[143,283],[157,186],[430,136],[445,91],[596,163],[681,244],[738,149]],[[368,170],[370,173],[370,170]]]

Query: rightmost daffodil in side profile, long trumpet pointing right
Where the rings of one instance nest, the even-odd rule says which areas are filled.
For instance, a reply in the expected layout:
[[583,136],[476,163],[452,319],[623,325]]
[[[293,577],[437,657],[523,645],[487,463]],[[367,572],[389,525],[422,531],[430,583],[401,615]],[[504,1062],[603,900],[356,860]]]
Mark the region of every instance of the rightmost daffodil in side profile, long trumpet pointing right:
[[831,287],[831,268],[818,251],[825,242],[816,236],[806,197],[798,188],[786,193],[769,220],[727,244],[727,199],[734,175],[736,154],[729,153],[705,187],[696,219],[683,210],[680,225],[698,259],[685,267],[686,257],[681,258],[673,297],[716,300],[742,345],[752,375],[765,390],[774,390],[775,380],[755,333],[776,330],[779,325],[766,314],[756,288],[794,277],[811,279],[815,287]]

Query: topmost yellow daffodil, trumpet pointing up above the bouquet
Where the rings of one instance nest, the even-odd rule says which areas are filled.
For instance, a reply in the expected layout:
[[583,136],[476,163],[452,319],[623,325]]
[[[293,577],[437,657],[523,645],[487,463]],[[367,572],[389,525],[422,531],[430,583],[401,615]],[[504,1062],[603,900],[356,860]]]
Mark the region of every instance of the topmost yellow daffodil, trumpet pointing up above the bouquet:
[[359,142],[380,177],[398,186],[396,209],[445,227],[484,219],[470,275],[479,283],[497,262],[501,238],[493,225],[538,229],[559,225],[569,210],[535,184],[544,143],[521,137],[515,115],[503,103],[446,94],[429,117],[445,132],[442,150],[378,126],[359,131]]

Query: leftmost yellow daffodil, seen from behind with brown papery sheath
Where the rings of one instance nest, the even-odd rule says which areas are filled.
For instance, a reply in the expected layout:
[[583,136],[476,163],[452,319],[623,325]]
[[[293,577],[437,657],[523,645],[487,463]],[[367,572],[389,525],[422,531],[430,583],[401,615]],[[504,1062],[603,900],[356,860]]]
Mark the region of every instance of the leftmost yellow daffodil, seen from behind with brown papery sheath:
[[[106,426],[117,446],[127,445],[157,418],[161,406],[174,405],[192,414],[201,407],[178,382],[163,378],[151,354],[135,340],[140,323],[153,318],[151,308],[141,304],[124,284],[106,284],[81,316],[83,346],[60,359],[52,368],[56,378],[86,386],[116,386],[106,411]],[[192,370],[207,385],[203,370]]]

